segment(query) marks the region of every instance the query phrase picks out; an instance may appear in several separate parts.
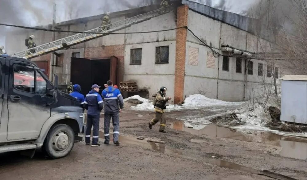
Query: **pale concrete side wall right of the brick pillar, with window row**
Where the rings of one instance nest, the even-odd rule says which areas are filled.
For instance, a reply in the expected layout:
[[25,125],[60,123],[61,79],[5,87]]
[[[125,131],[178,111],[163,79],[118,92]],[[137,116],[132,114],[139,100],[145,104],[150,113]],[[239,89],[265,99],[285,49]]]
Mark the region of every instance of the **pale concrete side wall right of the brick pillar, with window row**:
[[[225,56],[229,54],[219,51],[221,44],[229,44],[235,48],[257,52],[266,47],[268,42],[259,39],[241,29],[216,21],[200,13],[189,10],[188,28],[202,41],[211,46],[214,50]],[[213,67],[208,66],[208,52],[212,52],[202,42],[188,32],[186,50],[186,75],[185,75],[185,96],[201,93],[209,98],[218,98],[224,101],[244,101],[260,95],[264,92],[263,81],[271,82],[266,77],[266,63],[261,60],[251,59],[253,64],[253,75],[244,73],[245,59],[242,59],[242,73],[236,72],[236,58],[229,58],[229,71],[223,71],[223,56],[215,59]],[[261,44],[261,45],[260,45]],[[197,48],[198,62],[189,63],[189,48]],[[248,61],[248,60],[247,60]],[[263,75],[258,76],[258,63],[263,64]],[[245,85],[245,86],[244,86]]]

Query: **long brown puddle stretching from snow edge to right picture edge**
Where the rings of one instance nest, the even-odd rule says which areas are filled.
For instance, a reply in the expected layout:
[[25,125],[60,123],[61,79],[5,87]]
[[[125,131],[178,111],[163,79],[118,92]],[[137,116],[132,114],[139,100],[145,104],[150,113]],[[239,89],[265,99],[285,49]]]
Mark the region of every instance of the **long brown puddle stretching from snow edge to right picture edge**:
[[[194,135],[207,135],[211,138],[227,138],[232,140],[241,140],[246,142],[262,143],[267,145],[282,147],[280,155],[295,159],[307,159],[307,138],[284,136],[273,132],[257,131],[237,131],[234,129],[219,127],[213,124],[206,125],[202,129],[194,129],[185,126],[184,122],[176,121],[170,128],[178,131],[189,132]],[[202,143],[200,140],[191,140],[191,142]]]

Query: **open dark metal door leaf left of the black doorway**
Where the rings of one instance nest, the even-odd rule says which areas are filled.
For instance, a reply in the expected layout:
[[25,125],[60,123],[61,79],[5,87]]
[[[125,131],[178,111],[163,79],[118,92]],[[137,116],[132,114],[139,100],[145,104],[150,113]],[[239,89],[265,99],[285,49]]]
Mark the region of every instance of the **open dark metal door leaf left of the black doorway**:
[[84,96],[91,90],[91,60],[72,58],[71,80],[72,84],[81,86]]

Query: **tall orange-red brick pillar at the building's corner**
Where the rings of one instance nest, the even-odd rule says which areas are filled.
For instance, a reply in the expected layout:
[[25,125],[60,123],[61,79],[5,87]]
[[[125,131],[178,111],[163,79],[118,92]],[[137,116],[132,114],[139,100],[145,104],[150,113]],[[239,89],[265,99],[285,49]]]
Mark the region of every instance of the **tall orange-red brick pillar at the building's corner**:
[[[177,27],[188,26],[188,6],[177,9]],[[187,29],[177,29],[176,32],[176,62],[175,62],[175,94],[174,103],[181,104],[185,87],[185,54],[187,43]]]

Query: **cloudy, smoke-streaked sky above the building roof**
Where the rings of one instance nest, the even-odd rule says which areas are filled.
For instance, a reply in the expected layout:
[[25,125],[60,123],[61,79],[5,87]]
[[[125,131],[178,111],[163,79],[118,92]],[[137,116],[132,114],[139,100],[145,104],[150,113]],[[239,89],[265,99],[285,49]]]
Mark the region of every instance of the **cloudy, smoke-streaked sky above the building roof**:
[[[52,23],[53,3],[56,3],[56,22],[80,17],[94,16],[147,6],[156,0],[1,0],[0,23],[38,26]],[[248,10],[258,0],[190,0],[233,13]],[[0,45],[4,43],[3,31],[7,27],[0,26]],[[1,36],[2,34],[2,36]]]

